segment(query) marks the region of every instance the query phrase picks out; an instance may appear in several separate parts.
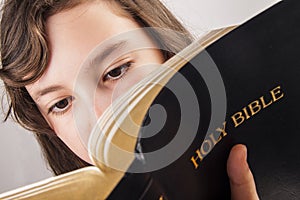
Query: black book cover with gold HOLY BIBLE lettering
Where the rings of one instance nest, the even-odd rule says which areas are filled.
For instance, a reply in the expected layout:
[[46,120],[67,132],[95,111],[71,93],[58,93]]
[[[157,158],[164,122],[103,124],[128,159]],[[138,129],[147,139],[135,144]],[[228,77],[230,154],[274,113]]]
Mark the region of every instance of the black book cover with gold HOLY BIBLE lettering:
[[[238,143],[262,199],[299,199],[299,10],[299,1],[283,1],[186,64],[152,104],[165,114],[145,117],[142,159],[131,166],[145,173],[126,173],[109,199],[230,199],[226,162]],[[153,117],[164,122],[155,135]]]

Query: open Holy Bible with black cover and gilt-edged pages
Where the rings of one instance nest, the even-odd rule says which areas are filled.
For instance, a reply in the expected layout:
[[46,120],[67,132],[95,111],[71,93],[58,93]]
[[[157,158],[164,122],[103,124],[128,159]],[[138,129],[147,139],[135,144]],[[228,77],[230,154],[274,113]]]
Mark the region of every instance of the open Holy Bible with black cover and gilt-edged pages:
[[89,139],[95,167],[0,198],[230,199],[237,143],[262,199],[299,198],[299,10],[284,1],[209,32],[107,109]]

